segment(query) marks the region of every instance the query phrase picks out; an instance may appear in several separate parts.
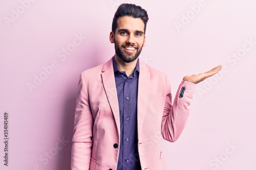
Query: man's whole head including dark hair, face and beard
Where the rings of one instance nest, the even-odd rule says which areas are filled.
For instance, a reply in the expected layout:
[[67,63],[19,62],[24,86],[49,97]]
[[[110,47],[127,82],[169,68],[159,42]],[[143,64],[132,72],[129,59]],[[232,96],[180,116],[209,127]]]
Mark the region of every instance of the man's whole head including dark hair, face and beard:
[[147,13],[140,6],[122,4],[112,23],[110,42],[115,43],[116,56],[123,62],[135,61],[145,46]]

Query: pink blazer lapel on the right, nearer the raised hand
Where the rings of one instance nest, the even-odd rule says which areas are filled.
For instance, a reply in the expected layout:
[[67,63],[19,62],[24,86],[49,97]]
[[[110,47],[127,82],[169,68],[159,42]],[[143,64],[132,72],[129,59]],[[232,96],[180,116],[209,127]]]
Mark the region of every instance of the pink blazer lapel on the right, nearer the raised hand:
[[150,71],[145,63],[139,60],[140,74],[138,83],[138,100],[137,100],[137,117],[138,117],[138,138],[141,135],[141,130],[146,114],[146,106],[148,100],[148,93],[150,89]]

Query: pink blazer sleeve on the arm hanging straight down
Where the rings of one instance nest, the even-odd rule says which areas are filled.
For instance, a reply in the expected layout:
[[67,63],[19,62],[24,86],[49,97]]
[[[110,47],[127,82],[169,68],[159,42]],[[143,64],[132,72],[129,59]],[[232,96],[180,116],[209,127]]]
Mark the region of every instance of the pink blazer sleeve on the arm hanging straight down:
[[83,73],[80,75],[75,108],[74,135],[72,139],[71,170],[90,169],[93,145],[93,116]]

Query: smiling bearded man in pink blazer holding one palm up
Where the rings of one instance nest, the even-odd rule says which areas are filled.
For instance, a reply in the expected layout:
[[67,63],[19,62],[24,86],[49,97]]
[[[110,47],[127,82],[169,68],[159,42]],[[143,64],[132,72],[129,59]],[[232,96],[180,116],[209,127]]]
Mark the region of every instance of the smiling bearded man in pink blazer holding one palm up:
[[179,138],[196,84],[221,69],[185,76],[172,103],[166,75],[138,59],[147,20],[140,6],[120,5],[110,33],[114,57],[81,73],[72,170],[165,169],[160,137]]

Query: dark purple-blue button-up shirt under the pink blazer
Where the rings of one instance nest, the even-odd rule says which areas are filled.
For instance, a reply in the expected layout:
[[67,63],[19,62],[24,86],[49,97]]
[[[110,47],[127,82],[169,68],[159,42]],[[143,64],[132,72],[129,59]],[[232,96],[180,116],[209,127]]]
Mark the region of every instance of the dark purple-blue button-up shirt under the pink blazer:
[[120,145],[117,170],[141,170],[138,154],[137,94],[139,60],[133,74],[119,71],[113,57],[116,90],[120,114]]

